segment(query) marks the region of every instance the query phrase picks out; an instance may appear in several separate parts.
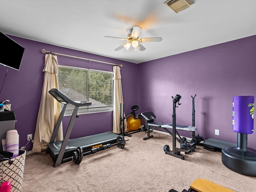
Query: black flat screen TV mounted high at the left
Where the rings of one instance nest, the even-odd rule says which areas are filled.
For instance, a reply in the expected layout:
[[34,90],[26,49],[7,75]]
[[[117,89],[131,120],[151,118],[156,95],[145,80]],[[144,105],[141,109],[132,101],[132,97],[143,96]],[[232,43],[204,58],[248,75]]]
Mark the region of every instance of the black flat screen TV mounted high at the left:
[[7,35],[0,32],[0,64],[20,70],[24,48]]

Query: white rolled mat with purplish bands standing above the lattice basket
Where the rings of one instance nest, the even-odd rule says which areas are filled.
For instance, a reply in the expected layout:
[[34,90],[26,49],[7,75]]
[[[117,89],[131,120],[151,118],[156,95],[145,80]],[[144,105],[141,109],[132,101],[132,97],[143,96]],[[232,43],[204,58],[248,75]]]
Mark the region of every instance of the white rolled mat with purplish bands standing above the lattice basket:
[[13,153],[12,158],[19,155],[19,135],[15,129],[6,132],[6,151]]

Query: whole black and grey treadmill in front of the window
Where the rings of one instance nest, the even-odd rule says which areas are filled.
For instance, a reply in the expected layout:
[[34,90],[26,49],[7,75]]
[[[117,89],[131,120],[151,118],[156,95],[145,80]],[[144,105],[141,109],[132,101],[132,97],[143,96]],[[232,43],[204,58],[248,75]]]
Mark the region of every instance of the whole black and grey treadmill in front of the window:
[[[119,148],[124,148],[124,136],[114,134],[113,132],[104,132],[82,138],[69,139],[74,125],[74,121],[78,117],[77,112],[79,107],[90,106],[92,105],[92,103],[73,101],[56,88],[51,89],[49,93],[58,102],[64,104],[60,112],[60,116],[58,118],[56,126],[54,128],[52,138],[50,140],[50,143],[48,144],[48,153],[54,161],[54,167],[60,166],[60,164],[69,162],[71,160],[73,160],[76,164],[80,164],[83,156],[93,154],[100,150],[105,150],[106,148],[110,148],[110,146],[118,145]],[[54,142],[68,104],[73,105],[74,110],[70,118],[70,122],[68,124],[64,140]]]

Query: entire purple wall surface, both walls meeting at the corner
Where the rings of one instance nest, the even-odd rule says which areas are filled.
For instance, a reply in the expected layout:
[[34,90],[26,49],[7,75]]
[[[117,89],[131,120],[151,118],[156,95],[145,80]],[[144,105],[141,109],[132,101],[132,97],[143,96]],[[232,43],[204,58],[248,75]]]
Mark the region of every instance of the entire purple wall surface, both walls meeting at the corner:
[[[20,71],[8,69],[0,94],[0,100],[9,99],[16,114],[16,129],[20,134],[20,147],[27,142],[27,134],[33,134],[38,114],[44,68],[41,50],[78,57],[123,64],[121,68],[125,113],[138,105],[139,112],[153,111],[160,122],[172,122],[172,96],[182,96],[176,109],[177,124],[192,124],[192,98],[195,98],[196,133],[204,138],[216,138],[235,142],[237,134],[232,131],[232,97],[234,95],[256,96],[256,36],[210,46],[158,60],[133,64],[103,56],[62,48],[50,44],[13,37],[24,46],[24,58]],[[60,65],[112,71],[112,65],[88,62],[58,56]],[[6,67],[0,66],[1,86]],[[64,117],[63,127],[70,117]],[[143,120],[142,120],[143,122]],[[255,126],[255,121],[254,121]],[[214,130],[220,130],[220,136]],[[80,115],[71,138],[87,136],[112,130],[112,112]],[[181,133],[191,137],[188,132]],[[248,135],[248,147],[256,150],[256,134]],[[29,146],[31,148],[31,145]],[[28,150],[30,149],[28,148]]]

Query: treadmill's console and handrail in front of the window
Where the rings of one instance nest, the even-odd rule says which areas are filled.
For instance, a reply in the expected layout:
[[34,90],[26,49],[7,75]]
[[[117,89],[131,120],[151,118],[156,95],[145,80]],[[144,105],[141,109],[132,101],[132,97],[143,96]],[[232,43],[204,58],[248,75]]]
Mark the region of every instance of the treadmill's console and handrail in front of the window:
[[70,99],[68,96],[66,96],[64,93],[62,93],[60,90],[56,88],[52,88],[49,93],[60,103],[62,104],[71,104],[76,107],[81,107],[81,106],[90,106],[92,105],[91,102],[78,102],[78,101],[73,101]]

